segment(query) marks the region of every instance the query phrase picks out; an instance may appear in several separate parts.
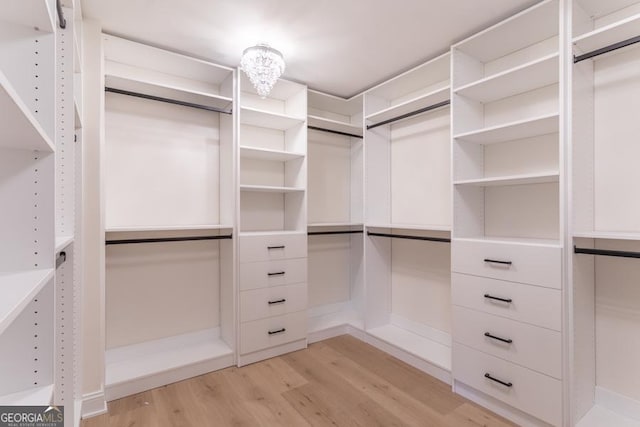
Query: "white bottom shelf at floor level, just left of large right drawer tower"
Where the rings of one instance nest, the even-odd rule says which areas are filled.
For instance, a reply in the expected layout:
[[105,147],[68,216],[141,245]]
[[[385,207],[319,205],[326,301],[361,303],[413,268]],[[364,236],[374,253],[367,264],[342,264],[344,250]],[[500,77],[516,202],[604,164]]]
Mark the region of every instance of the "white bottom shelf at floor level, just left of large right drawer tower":
[[394,325],[380,326],[368,329],[366,332],[432,365],[451,372],[451,347]]

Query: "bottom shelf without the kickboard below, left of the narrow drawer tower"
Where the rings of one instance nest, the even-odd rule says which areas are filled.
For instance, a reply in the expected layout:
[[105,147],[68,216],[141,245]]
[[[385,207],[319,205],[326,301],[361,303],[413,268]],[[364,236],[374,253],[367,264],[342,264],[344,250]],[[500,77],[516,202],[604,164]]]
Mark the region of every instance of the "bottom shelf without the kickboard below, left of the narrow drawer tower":
[[217,334],[217,330],[206,330],[109,349],[106,352],[106,386],[216,359],[233,358],[233,351]]

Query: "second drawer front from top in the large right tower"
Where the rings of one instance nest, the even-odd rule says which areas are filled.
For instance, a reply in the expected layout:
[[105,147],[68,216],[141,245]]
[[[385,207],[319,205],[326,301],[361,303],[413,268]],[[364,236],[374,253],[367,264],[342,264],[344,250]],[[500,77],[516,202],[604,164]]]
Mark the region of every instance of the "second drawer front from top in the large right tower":
[[557,289],[453,273],[451,296],[455,305],[561,330],[562,295]]

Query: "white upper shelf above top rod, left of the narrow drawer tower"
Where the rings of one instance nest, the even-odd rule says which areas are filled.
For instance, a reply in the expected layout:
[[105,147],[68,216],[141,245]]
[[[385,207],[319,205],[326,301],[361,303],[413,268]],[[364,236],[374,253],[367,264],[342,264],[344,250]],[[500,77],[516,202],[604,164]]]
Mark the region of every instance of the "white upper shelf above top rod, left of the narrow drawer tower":
[[[118,68],[112,68],[110,72],[115,73],[117,70]],[[204,105],[225,111],[230,111],[233,105],[233,100],[226,96],[191,90],[177,85],[160,84],[151,80],[135,80],[117,74],[105,76],[105,87]]]

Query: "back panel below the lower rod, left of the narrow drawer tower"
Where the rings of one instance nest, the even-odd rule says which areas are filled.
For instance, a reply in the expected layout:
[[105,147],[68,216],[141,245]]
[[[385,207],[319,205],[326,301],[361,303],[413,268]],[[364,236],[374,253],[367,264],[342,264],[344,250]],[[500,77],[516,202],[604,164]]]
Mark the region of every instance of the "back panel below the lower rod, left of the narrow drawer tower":
[[217,242],[108,246],[107,348],[219,325]]

